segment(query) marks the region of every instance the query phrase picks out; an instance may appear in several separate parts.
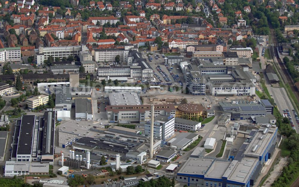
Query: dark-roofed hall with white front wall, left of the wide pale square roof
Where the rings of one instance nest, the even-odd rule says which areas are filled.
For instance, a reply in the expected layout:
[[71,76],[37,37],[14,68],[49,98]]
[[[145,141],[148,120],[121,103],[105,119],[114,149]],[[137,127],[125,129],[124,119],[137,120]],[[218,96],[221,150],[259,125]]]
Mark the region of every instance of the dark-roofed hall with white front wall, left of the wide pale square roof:
[[86,98],[75,99],[76,121],[92,120],[91,100]]

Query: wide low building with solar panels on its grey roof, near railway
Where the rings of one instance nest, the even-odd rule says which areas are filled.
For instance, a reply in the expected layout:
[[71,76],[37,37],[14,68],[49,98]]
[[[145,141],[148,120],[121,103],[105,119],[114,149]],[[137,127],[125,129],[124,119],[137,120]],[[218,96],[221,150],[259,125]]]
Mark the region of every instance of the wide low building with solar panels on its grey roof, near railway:
[[[266,103],[266,101],[264,101]],[[269,102],[269,101],[268,101]],[[267,103],[267,108],[261,103],[246,103],[246,102],[219,102],[220,110],[231,114],[231,120],[251,119],[251,116],[262,116],[273,114],[270,102]],[[271,107],[272,106],[272,107]]]

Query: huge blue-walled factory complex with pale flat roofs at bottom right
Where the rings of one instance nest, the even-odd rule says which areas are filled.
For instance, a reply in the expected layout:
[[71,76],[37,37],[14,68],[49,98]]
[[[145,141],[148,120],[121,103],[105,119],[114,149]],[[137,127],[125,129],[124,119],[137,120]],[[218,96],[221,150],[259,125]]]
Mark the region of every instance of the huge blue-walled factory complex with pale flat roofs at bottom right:
[[180,168],[176,180],[188,186],[254,186],[263,165],[271,158],[277,139],[275,125],[252,130],[233,160],[190,157]]

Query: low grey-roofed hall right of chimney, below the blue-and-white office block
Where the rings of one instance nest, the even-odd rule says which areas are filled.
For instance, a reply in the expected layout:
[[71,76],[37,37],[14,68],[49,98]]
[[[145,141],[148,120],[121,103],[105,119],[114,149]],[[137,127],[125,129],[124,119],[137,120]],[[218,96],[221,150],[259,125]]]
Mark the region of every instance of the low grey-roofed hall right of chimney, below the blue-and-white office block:
[[167,145],[176,147],[176,150],[184,150],[197,139],[198,134],[192,132],[184,132],[176,135],[170,141],[167,141]]

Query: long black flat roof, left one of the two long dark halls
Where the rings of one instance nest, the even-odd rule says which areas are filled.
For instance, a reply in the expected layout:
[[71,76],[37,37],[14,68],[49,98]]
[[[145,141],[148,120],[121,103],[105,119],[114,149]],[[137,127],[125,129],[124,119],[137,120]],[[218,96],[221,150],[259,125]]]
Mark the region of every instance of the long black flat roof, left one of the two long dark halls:
[[17,149],[18,155],[31,154],[34,124],[35,115],[22,115],[19,143]]

